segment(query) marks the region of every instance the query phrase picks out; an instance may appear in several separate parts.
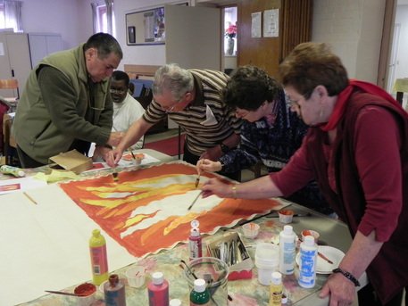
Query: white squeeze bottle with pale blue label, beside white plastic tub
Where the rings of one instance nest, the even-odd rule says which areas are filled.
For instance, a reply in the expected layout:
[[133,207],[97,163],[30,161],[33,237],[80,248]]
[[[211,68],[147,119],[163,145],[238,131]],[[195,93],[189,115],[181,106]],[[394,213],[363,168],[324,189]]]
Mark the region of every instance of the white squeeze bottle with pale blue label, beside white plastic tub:
[[290,225],[283,227],[279,233],[279,271],[282,274],[293,274],[295,270],[296,235]]

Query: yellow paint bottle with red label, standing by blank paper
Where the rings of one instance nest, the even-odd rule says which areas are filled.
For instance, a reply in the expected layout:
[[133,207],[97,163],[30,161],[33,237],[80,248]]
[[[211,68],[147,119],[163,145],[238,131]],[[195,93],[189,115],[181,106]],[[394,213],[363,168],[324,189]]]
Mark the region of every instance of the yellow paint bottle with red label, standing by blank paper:
[[89,252],[91,255],[92,280],[95,285],[101,285],[108,279],[108,258],[106,255],[106,241],[99,229],[92,231],[89,239]]

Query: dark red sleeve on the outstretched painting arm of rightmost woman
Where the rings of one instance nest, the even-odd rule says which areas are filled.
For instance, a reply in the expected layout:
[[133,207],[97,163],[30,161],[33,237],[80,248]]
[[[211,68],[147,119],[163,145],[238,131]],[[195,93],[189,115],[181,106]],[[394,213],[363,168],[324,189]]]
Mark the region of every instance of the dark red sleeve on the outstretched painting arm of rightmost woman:
[[292,155],[285,168],[270,174],[272,181],[284,196],[295,193],[314,179],[305,152],[306,141],[307,136],[304,137],[301,147]]

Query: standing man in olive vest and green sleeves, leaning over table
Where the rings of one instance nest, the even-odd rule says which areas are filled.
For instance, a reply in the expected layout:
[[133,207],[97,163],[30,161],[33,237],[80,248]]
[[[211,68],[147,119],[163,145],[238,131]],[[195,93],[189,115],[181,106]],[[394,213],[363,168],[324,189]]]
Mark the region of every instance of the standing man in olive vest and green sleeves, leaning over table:
[[18,103],[12,133],[22,168],[48,163],[58,153],[76,149],[104,155],[117,145],[111,133],[112,99],[109,78],[123,57],[114,37],[97,33],[87,43],[51,54],[29,74]]

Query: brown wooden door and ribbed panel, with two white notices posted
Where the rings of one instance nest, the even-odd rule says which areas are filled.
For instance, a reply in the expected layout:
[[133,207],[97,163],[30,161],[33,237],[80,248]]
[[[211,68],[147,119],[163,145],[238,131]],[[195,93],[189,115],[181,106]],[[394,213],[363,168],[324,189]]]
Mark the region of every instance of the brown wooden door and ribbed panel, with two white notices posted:
[[[251,37],[253,12],[279,9],[279,37]],[[238,2],[238,66],[251,64],[278,78],[279,63],[312,35],[312,0],[242,0]]]

